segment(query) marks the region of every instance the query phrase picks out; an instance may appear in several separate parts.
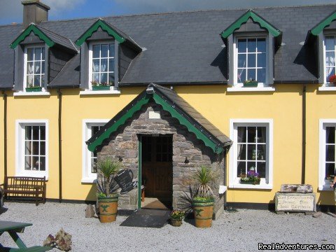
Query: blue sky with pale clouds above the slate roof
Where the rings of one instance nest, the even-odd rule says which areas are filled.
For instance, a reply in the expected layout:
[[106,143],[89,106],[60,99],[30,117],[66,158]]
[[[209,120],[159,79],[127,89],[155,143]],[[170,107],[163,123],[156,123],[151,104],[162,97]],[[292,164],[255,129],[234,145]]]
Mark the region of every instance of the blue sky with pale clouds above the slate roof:
[[[22,22],[22,0],[0,0],[0,25]],[[255,8],[335,3],[335,0],[40,0],[50,6],[49,20],[162,13],[218,8]],[[332,10],[330,10],[331,12]],[[326,13],[328,15],[329,13]]]

